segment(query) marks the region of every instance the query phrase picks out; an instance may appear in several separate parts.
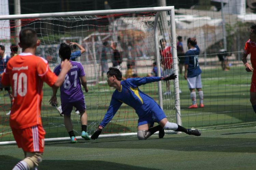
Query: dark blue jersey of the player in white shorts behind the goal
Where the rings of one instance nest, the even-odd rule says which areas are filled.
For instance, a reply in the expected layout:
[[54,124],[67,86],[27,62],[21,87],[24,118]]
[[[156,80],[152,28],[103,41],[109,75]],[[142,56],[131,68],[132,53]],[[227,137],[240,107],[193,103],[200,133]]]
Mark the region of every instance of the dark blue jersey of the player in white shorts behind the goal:
[[188,64],[187,77],[196,77],[202,73],[198,63],[199,53],[200,49],[197,45],[185,53],[185,64]]

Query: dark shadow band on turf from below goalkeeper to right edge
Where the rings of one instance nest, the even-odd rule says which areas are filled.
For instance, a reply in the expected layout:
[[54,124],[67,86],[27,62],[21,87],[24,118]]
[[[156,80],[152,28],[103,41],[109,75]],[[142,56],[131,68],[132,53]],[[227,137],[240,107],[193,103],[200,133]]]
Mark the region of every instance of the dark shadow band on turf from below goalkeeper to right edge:
[[[202,134],[203,135],[203,134]],[[126,138],[127,139],[127,138]],[[102,140],[102,141],[100,141]],[[255,139],[249,138],[218,138],[218,137],[154,137],[150,140],[138,140],[137,137],[128,140],[117,138],[96,139],[84,145],[76,143],[69,145],[74,148],[103,148],[103,149],[159,149],[169,151],[191,152],[227,152],[227,153],[256,153]],[[58,146],[51,145],[51,147]],[[62,145],[63,146],[63,145]],[[47,145],[46,145],[47,147]]]

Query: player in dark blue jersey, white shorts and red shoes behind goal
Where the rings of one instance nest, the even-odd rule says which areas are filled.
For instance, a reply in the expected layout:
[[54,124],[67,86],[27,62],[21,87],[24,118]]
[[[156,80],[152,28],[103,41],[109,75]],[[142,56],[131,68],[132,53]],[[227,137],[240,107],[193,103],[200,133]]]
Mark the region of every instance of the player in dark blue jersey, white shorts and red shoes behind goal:
[[190,90],[190,97],[192,100],[192,105],[188,108],[197,108],[196,104],[196,91],[198,91],[198,96],[200,99],[200,107],[204,107],[203,105],[203,91],[202,91],[202,82],[201,82],[201,69],[198,63],[198,55],[200,53],[200,49],[197,46],[196,38],[188,38],[187,39],[187,47],[188,51],[185,53],[185,74],[184,78],[187,80],[188,88]]

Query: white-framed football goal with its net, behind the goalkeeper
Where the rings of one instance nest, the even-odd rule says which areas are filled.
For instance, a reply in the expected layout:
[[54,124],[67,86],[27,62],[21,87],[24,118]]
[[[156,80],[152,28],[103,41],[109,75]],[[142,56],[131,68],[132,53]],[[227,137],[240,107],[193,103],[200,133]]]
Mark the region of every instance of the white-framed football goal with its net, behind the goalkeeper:
[[[11,56],[10,46],[17,46],[18,43],[17,30],[24,27],[34,28],[41,41],[36,55],[45,58],[52,71],[60,63],[58,56],[60,43],[78,44],[73,45],[72,50],[80,51],[78,53],[81,55],[74,55],[74,60],[82,63],[88,82],[89,91],[84,95],[88,115],[87,130],[89,134],[92,134],[103,119],[115,90],[106,83],[106,71],[109,67],[120,68],[123,79],[157,76],[157,67],[158,75],[164,71],[160,70],[159,41],[164,39],[167,48],[176,48],[175,43],[172,42],[172,40],[176,41],[174,40],[176,34],[174,11],[172,11],[173,22],[170,19],[171,10],[174,8],[31,14],[18,15],[13,18],[9,16],[8,20],[0,16],[0,22],[3,25],[10,20],[10,25],[1,28],[4,32],[8,32],[9,36],[2,34],[1,41],[6,49],[5,54]],[[19,51],[21,52],[21,49]],[[174,49],[172,67],[177,74],[175,52]],[[175,87],[174,83],[176,83]],[[178,80],[170,81],[169,87],[166,84],[155,82],[141,86],[140,90],[162,106],[170,122],[176,122],[176,113],[180,111],[179,92],[177,93],[179,91]],[[63,117],[57,111],[58,106],[54,107],[48,103],[51,95],[52,89],[44,84],[41,118],[46,131],[45,137],[68,137]],[[58,91],[58,101],[60,101],[59,95]],[[8,90],[3,89],[0,97],[0,141],[12,141],[14,139],[9,125],[9,115],[6,115],[11,109]],[[71,117],[75,135],[80,136],[80,115],[76,114],[75,108]],[[104,128],[103,134],[135,133],[137,124],[138,116],[134,109],[123,104],[113,120]]]

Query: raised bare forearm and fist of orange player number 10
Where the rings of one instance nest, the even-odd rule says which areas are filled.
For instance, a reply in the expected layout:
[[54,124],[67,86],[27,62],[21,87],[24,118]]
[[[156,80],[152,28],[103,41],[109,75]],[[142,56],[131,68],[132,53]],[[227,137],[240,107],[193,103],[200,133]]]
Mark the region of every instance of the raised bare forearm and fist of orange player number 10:
[[69,60],[64,60],[61,62],[60,64],[61,67],[61,71],[60,74],[58,76],[57,81],[54,83],[53,87],[60,87],[61,84],[63,83],[66,74],[69,72],[70,68],[72,67],[72,64],[69,62]]

